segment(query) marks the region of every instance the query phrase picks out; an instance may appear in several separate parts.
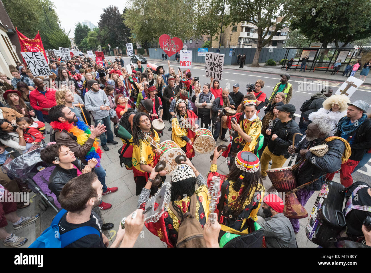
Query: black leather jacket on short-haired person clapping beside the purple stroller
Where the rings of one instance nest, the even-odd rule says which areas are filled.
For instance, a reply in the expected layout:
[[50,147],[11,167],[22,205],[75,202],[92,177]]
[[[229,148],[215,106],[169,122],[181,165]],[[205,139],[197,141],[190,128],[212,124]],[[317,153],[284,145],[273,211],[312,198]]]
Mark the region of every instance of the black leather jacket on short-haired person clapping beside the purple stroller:
[[[73,165],[79,168],[82,171],[85,168],[85,165],[79,160],[76,159],[72,162]],[[72,178],[77,177],[77,169],[63,169],[59,165],[55,166],[54,171],[49,177],[49,190],[55,194],[57,200],[59,201],[59,194],[62,191],[64,185],[67,184]]]

